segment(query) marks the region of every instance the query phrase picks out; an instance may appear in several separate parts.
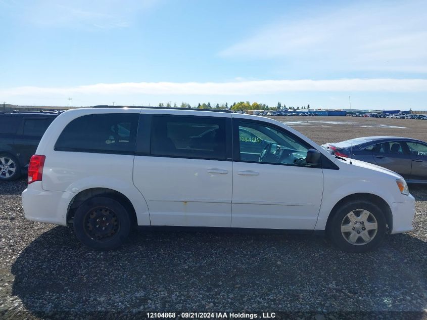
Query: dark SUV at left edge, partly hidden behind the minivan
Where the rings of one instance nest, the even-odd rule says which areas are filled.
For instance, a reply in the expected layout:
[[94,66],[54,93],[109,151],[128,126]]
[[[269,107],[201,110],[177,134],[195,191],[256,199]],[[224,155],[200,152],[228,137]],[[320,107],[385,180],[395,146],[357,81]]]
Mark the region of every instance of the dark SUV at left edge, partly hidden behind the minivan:
[[0,181],[15,180],[28,170],[44,131],[57,111],[0,112]]

